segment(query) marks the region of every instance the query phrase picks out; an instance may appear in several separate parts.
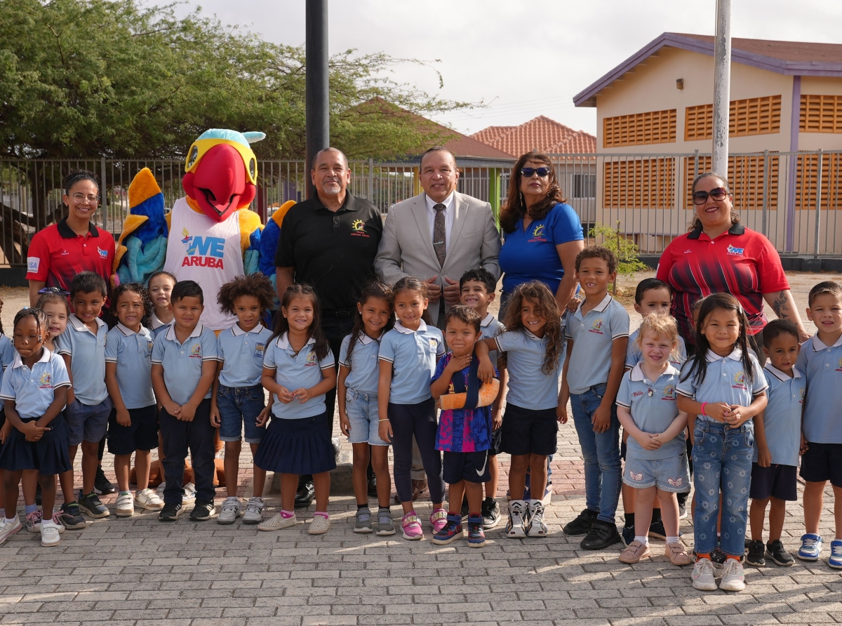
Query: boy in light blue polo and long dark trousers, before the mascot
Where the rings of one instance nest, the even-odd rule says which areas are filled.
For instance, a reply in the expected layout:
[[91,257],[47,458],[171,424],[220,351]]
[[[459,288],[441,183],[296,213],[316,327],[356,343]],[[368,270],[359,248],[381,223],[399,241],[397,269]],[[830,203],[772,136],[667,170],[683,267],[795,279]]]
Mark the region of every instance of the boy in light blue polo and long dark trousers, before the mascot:
[[189,449],[193,461],[196,503],[193,521],[210,519],[216,512],[213,499],[214,436],[210,424],[210,388],[216,377],[216,334],[199,318],[205,308],[201,287],[179,281],[170,296],[174,320],[152,346],[152,388],[162,409],[164,472],[167,486],[158,520],[174,522],[183,512],[184,459]]

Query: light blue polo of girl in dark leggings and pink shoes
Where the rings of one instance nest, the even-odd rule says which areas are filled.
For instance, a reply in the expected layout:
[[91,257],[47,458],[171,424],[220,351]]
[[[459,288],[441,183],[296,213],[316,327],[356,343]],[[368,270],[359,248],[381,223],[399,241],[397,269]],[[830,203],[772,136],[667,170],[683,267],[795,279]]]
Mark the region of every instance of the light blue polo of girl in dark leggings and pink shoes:
[[397,322],[395,328],[383,335],[380,342],[381,361],[392,363],[392,404],[418,404],[432,398],[429,386],[435,372],[435,362],[445,354],[445,338],[435,326],[421,320],[418,330],[405,328]]

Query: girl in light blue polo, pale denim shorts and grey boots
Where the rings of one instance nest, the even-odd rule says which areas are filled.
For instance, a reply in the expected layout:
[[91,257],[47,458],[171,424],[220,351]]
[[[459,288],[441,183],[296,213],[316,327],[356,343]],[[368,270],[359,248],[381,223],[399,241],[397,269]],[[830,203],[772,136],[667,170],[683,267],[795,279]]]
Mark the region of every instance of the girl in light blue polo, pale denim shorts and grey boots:
[[[357,300],[354,329],[342,340],[339,348],[339,380],[337,399],[339,426],[354,447],[354,495],[357,514],[354,532],[393,535],[395,527],[389,510],[389,444],[380,438],[377,415],[377,383],[380,366],[377,359],[380,340],[395,325],[392,290],[379,281],[363,287]],[[372,527],[368,507],[368,485],[365,475],[371,468],[377,479],[376,528]]]

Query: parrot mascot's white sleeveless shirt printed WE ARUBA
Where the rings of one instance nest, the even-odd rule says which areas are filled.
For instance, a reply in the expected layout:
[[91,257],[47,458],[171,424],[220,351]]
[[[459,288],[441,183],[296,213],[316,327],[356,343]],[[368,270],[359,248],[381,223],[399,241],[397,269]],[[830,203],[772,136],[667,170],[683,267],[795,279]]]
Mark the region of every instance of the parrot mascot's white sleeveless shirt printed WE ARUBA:
[[179,281],[196,281],[205,293],[201,323],[211,330],[232,326],[237,317],[222,313],[216,296],[220,287],[245,273],[240,247],[240,220],[234,213],[214,222],[179,198],[170,218],[167,259],[163,269]]

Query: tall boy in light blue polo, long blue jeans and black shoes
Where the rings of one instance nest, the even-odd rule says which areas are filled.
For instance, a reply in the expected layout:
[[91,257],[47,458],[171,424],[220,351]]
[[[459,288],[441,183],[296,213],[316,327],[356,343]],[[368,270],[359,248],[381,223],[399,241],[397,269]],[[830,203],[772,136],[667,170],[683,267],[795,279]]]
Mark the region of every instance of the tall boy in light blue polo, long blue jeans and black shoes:
[[585,466],[587,508],[569,522],[568,535],[587,533],[584,549],[600,550],[621,540],[614,522],[621,490],[620,421],[615,399],[626,364],[629,315],[608,293],[617,259],[613,252],[589,246],[576,257],[576,273],[585,300],[568,313],[568,357],[564,362],[559,406],[573,407]]

